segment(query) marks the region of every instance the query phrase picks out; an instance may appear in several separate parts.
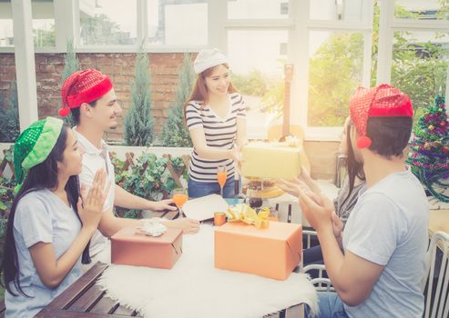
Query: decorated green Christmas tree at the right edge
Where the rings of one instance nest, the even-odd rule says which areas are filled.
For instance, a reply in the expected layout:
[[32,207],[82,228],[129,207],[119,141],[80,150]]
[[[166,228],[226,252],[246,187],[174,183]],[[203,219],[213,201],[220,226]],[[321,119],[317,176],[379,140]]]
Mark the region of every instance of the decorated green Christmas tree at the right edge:
[[449,202],[449,196],[437,189],[449,185],[449,130],[444,97],[435,98],[414,127],[407,163],[427,190],[438,200]]

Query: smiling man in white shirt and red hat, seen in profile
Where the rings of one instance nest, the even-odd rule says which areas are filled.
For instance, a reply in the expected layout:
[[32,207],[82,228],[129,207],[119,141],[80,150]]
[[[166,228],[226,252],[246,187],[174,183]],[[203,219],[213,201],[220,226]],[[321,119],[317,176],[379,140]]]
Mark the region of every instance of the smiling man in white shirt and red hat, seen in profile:
[[[95,69],[78,71],[66,79],[61,95],[63,108],[59,110],[59,114],[66,116],[70,112],[72,113],[77,123],[74,132],[77,134],[78,144],[85,151],[82,173],[79,175],[81,184],[85,184],[89,188],[95,173],[101,168],[106,170],[108,182],[115,184],[114,166],[109,158],[103,134],[108,129],[117,127],[117,115],[121,113],[121,108],[117,103],[117,95],[109,77]],[[116,217],[113,213],[114,206],[153,211],[176,210],[176,207],[168,205],[171,202],[171,200],[149,201],[129,194],[117,184],[111,186],[103,206],[104,213],[98,224],[99,232],[94,235],[90,243],[90,256],[94,260],[103,260],[99,254],[107,246],[106,237],[110,237],[125,226],[142,225],[141,220]],[[168,227],[182,229],[184,233],[199,231],[199,222],[189,218],[179,218],[173,221],[160,220],[160,223]]]

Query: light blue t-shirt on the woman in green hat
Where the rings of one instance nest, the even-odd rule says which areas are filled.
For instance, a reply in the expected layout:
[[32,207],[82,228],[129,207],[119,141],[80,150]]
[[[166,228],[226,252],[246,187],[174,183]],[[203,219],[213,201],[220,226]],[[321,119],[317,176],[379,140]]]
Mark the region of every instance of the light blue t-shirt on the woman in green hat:
[[28,248],[36,243],[52,243],[56,259],[66,253],[81,229],[75,211],[51,191],[39,190],[26,194],[15,209],[14,238],[19,263],[19,281],[22,290],[31,298],[16,292],[5,292],[6,317],[34,317],[81,275],[81,257],[64,280],[49,289],[41,282]]

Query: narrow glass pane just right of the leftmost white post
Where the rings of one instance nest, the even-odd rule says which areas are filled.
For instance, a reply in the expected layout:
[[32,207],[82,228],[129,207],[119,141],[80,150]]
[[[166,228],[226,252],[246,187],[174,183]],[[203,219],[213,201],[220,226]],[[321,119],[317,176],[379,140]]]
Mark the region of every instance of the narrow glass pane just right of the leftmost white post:
[[55,46],[55,10],[53,0],[32,0],[33,40],[36,47]]

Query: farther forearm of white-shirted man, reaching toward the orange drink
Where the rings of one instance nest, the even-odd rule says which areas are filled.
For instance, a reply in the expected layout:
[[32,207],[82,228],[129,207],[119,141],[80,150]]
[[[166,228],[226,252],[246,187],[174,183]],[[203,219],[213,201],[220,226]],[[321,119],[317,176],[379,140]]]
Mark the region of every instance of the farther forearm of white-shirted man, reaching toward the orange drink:
[[175,206],[168,205],[173,202],[171,199],[162,200],[158,202],[149,201],[137,195],[128,193],[128,191],[126,191],[117,184],[115,192],[116,192],[114,196],[115,206],[136,210],[152,210],[152,211],[176,210]]

